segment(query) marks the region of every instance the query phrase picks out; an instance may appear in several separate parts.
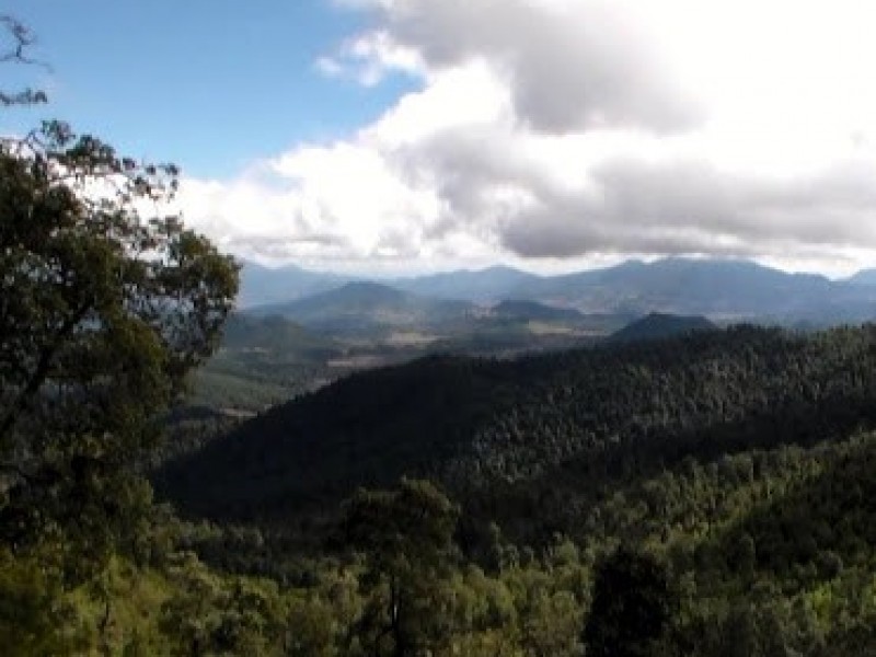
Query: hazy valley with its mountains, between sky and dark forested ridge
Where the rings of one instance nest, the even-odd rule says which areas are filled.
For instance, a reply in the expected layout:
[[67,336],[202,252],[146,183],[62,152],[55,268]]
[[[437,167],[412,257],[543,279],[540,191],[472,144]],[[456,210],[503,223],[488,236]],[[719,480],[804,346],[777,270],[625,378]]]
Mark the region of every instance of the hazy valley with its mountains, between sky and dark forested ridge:
[[[831,281],[745,261],[685,258],[553,277],[493,267],[385,280],[246,263],[238,313],[220,351],[195,376],[193,403],[252,413],[351,372],[427,355],[511,358],[626,334],[666,337],[698,322],[802,331],[860,323],[876,319],[876,286],[867,280],[865,273]],[[646,325],[622,331],[649,314]],[[671,319],[679,315],[680,323]]]

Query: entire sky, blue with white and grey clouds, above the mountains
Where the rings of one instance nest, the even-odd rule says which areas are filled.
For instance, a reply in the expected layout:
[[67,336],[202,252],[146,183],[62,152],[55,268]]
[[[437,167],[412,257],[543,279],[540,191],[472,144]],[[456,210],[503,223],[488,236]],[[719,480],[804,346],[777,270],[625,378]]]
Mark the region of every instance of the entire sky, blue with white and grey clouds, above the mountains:
[[264,264],[876,266],[865,0],[19,0],[60,117]]

